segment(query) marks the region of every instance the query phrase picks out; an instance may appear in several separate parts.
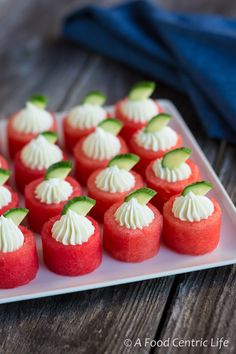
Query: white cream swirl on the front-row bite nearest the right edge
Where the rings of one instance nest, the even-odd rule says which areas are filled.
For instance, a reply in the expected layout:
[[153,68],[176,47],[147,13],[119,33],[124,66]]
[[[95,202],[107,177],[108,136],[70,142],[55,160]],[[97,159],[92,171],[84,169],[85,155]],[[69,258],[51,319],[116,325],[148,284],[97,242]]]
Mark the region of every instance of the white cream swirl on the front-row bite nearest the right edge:
[[214,213],[214,204],[204,195],[189,192],[175,199],[172,212],[182,221],[201,221]]

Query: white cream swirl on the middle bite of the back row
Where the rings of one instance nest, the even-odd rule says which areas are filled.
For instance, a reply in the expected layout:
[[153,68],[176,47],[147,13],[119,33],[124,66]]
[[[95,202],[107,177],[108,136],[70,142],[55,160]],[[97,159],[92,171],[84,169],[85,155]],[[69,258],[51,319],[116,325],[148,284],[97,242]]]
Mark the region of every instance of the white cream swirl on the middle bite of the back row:
[[104,108],[85,103],[70,110],[68,122],[74,128],[90,129],[96,127],[98,123],[106,118],[106,115]]

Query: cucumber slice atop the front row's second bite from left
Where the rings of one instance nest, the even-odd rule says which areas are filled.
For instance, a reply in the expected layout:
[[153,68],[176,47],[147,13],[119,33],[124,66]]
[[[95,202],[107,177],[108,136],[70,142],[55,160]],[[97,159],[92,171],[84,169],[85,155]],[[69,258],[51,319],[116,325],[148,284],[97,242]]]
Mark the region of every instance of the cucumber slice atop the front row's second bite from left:
[[66,203],[62,210],[62,215],[65,215],[69,210],[73,210],[79,215],[86,216],[95,204],[96,200],[92,198],[86,196],[75,197]]

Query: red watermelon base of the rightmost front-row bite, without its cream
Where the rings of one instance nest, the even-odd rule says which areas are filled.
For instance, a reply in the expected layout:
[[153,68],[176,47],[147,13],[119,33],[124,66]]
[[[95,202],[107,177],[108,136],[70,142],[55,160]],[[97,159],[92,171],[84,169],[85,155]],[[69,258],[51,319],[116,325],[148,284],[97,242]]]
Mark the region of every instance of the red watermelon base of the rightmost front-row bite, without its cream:
[[163,208],[163,239],[168,247],[178,253],[201,255],[213,251],[220,240],[221,209],[217,201],[214,213],[201,221],[182,221],[172,212],[172,197]]

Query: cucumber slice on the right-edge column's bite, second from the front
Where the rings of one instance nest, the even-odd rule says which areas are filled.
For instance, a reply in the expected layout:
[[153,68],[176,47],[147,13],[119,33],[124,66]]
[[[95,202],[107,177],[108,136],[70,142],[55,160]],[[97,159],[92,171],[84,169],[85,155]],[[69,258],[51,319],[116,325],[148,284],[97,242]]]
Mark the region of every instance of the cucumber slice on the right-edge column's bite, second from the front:
[[178,168],[190,157],[191,153],[192,150],[185,147],[171,150],[164,155],[161,165],[170,169]]

